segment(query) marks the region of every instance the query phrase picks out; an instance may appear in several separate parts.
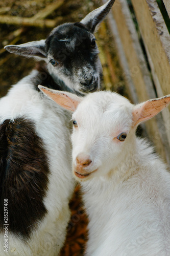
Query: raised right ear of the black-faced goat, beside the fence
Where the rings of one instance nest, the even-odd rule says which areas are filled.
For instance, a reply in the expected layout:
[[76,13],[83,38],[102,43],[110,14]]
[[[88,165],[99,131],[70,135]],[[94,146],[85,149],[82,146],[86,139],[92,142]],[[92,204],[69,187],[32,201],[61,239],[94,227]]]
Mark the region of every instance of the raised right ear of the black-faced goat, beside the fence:
[[106,4],[95,9],[94,11],[87,14],[85,18],[81,20],[81,23],[84,24],[92,33],[95,30],[95,27],[102,22],[106,17],[111,7],[113,6],[115,0],[109,0]]

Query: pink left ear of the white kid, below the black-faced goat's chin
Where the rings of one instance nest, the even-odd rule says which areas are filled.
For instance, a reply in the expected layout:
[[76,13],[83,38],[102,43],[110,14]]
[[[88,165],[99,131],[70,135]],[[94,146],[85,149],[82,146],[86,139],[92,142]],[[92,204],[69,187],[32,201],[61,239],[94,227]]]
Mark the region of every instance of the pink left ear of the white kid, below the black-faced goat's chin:
[[74,112],[77,106],[82,101],[82,98],[68,92],[57,91],[48,89],[43,86],[38,86],[38,88],[50,99],[54,100],[57,104],[62,106],[64,109]]

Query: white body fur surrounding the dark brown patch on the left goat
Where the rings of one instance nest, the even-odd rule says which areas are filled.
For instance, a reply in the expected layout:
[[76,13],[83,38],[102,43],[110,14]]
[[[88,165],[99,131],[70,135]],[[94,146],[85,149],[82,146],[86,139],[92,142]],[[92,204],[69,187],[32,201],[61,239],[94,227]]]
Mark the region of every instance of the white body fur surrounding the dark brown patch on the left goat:
[[[65,241],[70,218],[69,199],[74,189],[70,166],[68,121],[70,116],[60,106],[35,90],[30,80],[37,71],[23,78],[0,100],[0,123],[6,119],[25,117],[36,126],[43,140],[50,163],[48,190],[44,205],[48,211],[33,231],[27,243],[9,233],[9,250],[4,252],[4,235],[0,234],[0,255],[53,256],[58,255]],[[13,252],[11,252],[11,250]]]

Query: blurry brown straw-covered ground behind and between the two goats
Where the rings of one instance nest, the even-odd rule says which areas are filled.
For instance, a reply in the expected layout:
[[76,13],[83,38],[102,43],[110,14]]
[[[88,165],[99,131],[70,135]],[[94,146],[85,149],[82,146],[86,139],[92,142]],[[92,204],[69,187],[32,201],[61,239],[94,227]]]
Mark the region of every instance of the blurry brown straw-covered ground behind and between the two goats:
[[[46,6],[56,2],[55,0],[0,0],[0,15],[11,15],[16,17],[33,17]],[[64,22],[80,22],[90,11],[101,5],[99,0],[67,0],[56,11],[46,18],[56,19],[56,26]],[[36,26],[0,25],[0,97],[6,95],[12,84],[26,76],[35,67],[33,59],[15,56],[6,52],[3,48],[9,44],[23,44],[32,40],[46,38],[52,28]],[[107,28],[106,22],[102,23],[96,33],[100,49],[101,61],[104,69],[105,89],[117,91],[125,95],[125,82],[122,70],[118,63],[114,40]],[[68,236],[61,256],[83,255],[87,239],[87,222],[83,205],[79,196],[79,188],[76,189],[74,198],[70,202],[72,217],[68,225]]]

